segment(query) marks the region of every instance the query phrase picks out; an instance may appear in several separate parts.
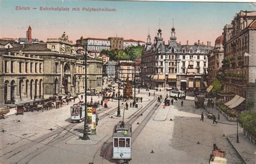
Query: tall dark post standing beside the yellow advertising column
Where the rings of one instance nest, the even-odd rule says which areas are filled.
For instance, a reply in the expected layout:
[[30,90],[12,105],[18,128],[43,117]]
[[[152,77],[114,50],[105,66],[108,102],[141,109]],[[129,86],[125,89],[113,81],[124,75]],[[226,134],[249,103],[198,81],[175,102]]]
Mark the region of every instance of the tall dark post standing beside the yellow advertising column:
[[[87,78],[87,46],[85,45],[85,54],[84,54],[84,65],[85,65],[85,78]],[[85,87],[84,87],[84,102],[85,102],[85,112],[84,112],[84,132],[82,140],[90,140],[87,132],[89,132],[88,128],[88,120],[87,120],[87,80],[85,80]]]

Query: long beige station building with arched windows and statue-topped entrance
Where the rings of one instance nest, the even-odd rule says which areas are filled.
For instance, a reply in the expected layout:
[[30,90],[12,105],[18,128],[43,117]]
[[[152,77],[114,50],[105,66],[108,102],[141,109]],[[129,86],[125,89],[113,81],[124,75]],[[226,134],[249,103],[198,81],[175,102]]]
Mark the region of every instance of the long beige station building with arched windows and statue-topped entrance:
[[[5,104],[84,92],[84,51],[77,50],[65,32],[46,43],[23,44],[0,51],[1,99]],[[101,91],[102,61],[87,57],[87,88]],[[91,85],[91,86],[89,86]]]

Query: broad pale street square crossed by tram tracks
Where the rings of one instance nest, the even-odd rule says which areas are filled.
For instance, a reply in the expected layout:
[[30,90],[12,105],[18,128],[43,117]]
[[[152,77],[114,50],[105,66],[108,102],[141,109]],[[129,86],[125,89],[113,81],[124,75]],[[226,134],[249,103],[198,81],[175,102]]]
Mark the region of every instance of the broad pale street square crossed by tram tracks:
[[[178,100],[178,103],[174,102],[166,108],[158,104],[158,109],[152,110],[157,104],[157,97],[167,92],[156,92],[155,97],[153,91],[150,92],[151,97],[149,92],[141,89],[137,95],[143,97],[143,103],[139,102],[138,109],[129,106],[129,110],[125,110],[124,120],[133,122],[130,163],[207,163],[213,144],[226,151],[228,163],[241,163],[223,136],[225,130],[230,134],[232,125],[212,124],[212,120],[206,118],[206,111],[194,108],[192,100],[184,100],[183,107],[180,105],[181,100]],[[102,99],[98,96],[92,98],[93,101]],[[90,99],[87,97],[87,100]],[[5,163],[115,162],[111,160],[111,151],[107,149],[112,146],[113,126],[122,120],[116,117],[117,100],[110,100],[107,109],[100,106],[97,111],[97,134],[89,135],[91,139],[86,141],[79,139],[83,135],[83,122],[70,123],[72,104],[50,111],[11,115],[0,120],[1,129],[4,129],[1,138]],[[124,104],[121,100],[122,115]],[[204,122],[200,121],[201,112],[205,115]]]

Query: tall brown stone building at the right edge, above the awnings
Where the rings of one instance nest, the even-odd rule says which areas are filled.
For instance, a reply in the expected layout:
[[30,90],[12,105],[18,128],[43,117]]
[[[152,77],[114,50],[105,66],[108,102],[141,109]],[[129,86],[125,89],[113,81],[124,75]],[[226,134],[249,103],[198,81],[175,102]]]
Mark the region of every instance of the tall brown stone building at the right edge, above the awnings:
[[[256,11],[240,11],[224,26],[224,92],[256,103]],[[254,105],[255,108],[255,105]]]

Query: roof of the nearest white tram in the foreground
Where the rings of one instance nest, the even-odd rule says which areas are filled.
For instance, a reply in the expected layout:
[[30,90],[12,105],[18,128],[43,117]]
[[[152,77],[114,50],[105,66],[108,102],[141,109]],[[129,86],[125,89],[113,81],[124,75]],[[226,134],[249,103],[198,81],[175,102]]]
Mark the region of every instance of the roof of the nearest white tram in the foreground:
[[[127,133],[124,134],[124,131],[126,131]],[[131,136],[132,136],[131,124],[125,122],[123,127],[122,122],[120,122],[114,126],[113,137],[131,137]]]

